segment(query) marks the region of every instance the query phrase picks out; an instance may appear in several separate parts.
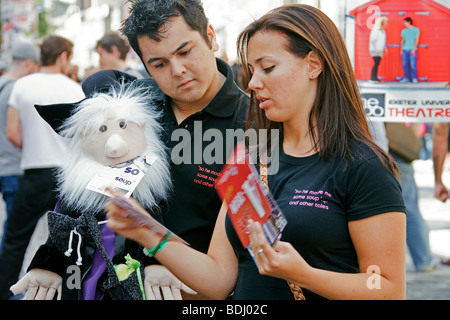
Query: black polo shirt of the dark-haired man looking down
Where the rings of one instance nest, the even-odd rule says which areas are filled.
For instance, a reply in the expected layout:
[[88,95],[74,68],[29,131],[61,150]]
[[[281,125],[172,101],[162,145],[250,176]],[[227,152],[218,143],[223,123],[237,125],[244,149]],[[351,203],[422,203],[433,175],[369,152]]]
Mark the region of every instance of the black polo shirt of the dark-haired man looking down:
[[[226,77],[220,91],[200,112],[178,124],[170,98],[155,98],[162,109],[163,139],[169,148],[173,191],[162,206],[167,228],[194,249],[206,252],[221,200],[214,182],[243,133],[248,97],[238,88],[231,68],[217,59]],[[228,146],[227,146],[228,144]]]

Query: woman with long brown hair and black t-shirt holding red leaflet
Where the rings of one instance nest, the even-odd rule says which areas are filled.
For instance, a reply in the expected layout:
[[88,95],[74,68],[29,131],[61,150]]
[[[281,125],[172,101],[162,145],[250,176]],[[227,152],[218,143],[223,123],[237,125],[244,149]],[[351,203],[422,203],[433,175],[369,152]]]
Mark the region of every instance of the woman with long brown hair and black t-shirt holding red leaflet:
[[[282,241],[272,248],[249,222],[256,266],[223,205],[207,255],[163,241],[155,258],[213,299],[293,299],[286,280],[306,299],[403,299],[397,168],[370,136],[338,30],[314,7],[283,6],[250,24],[238,47],[251,89],[248,123],[281,133],[278,146],[271,142],[280,157],[268,184],[288,221]],[[317,196],[292,201],[310,194]],[[114,203],[105,210],[117,233],[146,248],[161,244]]]

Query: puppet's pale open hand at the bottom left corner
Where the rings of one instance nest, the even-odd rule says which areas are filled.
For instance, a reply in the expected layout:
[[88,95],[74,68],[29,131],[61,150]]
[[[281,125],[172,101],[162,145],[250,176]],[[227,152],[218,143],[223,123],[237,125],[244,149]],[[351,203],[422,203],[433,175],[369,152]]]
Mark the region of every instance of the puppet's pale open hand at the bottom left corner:
[[61,300],[61,283],[61,276],[54,272],[32,269],[10,290],[14,295],[27,291],[24,300],[53,300],[58,291],[57,299]]

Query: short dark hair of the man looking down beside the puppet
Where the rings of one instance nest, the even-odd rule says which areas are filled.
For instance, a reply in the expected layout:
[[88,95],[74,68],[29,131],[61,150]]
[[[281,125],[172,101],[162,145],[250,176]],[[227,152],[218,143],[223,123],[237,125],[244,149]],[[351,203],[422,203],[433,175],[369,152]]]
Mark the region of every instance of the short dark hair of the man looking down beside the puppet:
[[128,39],[130,46],[142,58],[138,37],[147,36],[161,41],[167,30],[167,23],[173,17],[182,16],[189,27],[198,31],[210,44],[205,15],[200,0],[130,0],[130,15],[122,22],[120,31]]

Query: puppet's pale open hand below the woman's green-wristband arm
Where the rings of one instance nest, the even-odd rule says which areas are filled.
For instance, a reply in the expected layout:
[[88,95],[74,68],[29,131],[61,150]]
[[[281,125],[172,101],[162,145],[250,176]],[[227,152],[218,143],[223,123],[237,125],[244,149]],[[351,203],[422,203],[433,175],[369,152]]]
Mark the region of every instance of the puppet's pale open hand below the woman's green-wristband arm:
[[183,300],[181,290],[188,294],[197,294],[164,266],[151,265],[145,267],[144,270],[144,288],[147,300]]

